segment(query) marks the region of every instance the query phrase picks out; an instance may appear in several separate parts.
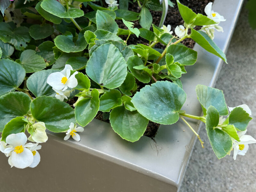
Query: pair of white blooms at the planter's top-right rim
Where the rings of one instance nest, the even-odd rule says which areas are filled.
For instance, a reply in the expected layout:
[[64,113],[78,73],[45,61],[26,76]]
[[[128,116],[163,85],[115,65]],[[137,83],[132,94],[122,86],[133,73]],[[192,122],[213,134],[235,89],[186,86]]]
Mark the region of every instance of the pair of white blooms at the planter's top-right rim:
[[204,25],[201,29],[202,31],[206,32],[206,34],[211,39],[213,39],[214,38],[214,29],[216,29],[217,31],[223,32],[223,28],[220,27],[219,24],[220,24],[220,21],[225,21],[225,19],[219,13],[212,11],[212,3],[208,3],[205,6],[204,12],[206,13],[206,15],[209,19],[212,19],[215,22],[217,22],[217,24],[214,24],[214,25]]

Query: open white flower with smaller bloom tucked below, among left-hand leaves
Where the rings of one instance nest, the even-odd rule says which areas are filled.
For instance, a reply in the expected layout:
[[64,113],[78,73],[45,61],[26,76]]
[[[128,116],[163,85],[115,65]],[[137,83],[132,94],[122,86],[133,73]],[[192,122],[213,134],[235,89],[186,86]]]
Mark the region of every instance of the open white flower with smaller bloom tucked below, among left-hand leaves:
[[68,99],[72,90],[77,86],[77,79],[75,77],[78,72],[76,71],[70,76],[70,71],[73,70],[71,65],[65,65],[65,68],[60,72],[54,72],[47,78],[47,83],[52,86],[52,89],[56,92],[55,97],[61,101]]

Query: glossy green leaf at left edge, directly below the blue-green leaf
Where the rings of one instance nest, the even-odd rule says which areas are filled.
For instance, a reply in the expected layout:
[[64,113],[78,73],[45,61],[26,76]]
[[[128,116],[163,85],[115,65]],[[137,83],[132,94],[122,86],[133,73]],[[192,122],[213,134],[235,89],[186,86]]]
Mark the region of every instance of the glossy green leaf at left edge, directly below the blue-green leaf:
[[23,92],[10,92],[0,97],[0,132],[5,124],[17,116],[28,113],[31,99]]

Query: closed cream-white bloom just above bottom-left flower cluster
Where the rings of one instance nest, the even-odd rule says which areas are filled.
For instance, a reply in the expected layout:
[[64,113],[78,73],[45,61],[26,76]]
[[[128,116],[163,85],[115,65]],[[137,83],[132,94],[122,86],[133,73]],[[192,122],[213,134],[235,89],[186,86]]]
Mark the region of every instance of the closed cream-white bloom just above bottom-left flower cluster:
[[37,122],[32,125],[33,133],[28,137],[29,141],[36,142],[36,143],[44,143],[48,140],[46,135],[46,127],[44,122]]

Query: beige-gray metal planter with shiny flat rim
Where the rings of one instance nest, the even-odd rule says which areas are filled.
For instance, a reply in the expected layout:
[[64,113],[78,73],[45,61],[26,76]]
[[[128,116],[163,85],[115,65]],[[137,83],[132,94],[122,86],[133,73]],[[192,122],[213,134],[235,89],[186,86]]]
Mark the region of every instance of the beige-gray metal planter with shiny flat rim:
[[[227,50],[243,0],[215,0],[213,10],[227,19],[224,33],[215,34],[215,43]],[[227,11],[228,10],[228,11]],[[199,45],[198,60],[188,67],[181,81],[187,93],[183,110],[201,115],[197,84],[213,86],[222,61]],[[198,129],[198,121],[190,124]],[[34,169],[10,169],[4,154],[1,178],[3,191],[177,191],[188,162],[195,135],[178,121],[161,125],[155,141],[142,137],[134,143],[122,140],[110,124],[93,120],[80,134],[82,140],[64,141],[65,134],[48,134],[40,150],[41,162]],[[202,138],[207,140],[207,138]],[[65,145],[65,147],[63,147]],[[2,174],[2,175],[4,175]],[[13,184],[15,183],[15,184]]]

